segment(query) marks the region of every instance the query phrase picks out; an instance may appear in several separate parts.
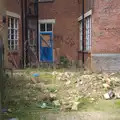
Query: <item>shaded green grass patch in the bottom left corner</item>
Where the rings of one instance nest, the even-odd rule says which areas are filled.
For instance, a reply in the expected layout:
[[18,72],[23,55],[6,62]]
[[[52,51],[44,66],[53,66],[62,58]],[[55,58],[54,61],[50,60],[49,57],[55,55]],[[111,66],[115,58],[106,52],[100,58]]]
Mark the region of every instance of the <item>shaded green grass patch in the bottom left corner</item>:
[[[51,105],[48,103],[49,106]],[[54,106],[51,106],[54,107]],[[47,113],[58,113],[58,109],[41,109],[37,107],[35,103],[31,104],[29,107],[20,104],[19,106],[14,106],[11,113],[6,113],[3,115],[3,120],[8,120],[9,118],[18,118],[19,120],[46,120]]]

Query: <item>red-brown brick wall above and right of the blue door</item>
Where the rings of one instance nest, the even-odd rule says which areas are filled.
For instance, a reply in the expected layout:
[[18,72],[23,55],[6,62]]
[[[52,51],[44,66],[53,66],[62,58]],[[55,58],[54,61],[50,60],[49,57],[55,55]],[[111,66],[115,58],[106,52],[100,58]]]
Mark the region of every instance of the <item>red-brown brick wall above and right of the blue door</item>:
[[78,59],[79,50],[79,2],[78,0],[55,0],[40,3],[39,19],[55,19],[54,48],[60,48],[60,56]]

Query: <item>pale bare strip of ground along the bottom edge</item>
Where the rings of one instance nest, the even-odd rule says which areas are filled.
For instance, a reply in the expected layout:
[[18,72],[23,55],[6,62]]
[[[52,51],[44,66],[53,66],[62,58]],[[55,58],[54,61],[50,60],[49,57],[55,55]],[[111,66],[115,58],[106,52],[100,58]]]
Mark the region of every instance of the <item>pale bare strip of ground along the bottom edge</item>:
[[120,120],[120,115],[104,112],[73,112],[41,115],[40,120]]

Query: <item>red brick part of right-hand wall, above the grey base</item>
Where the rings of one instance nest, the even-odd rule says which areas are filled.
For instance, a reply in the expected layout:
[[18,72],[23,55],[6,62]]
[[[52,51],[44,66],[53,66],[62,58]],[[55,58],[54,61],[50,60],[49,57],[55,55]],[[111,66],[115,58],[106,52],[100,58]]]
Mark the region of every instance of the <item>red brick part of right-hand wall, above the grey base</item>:
[[120,0],[94,0],[92,53],[120,52]]

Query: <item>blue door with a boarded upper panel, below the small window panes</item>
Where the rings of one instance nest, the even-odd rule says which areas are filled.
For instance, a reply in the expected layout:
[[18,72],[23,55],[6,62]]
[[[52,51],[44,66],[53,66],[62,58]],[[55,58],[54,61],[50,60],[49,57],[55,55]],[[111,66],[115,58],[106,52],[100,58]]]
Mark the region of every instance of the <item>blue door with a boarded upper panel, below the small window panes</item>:
[[40,61],[53,62],[52,32],[40,32]]

